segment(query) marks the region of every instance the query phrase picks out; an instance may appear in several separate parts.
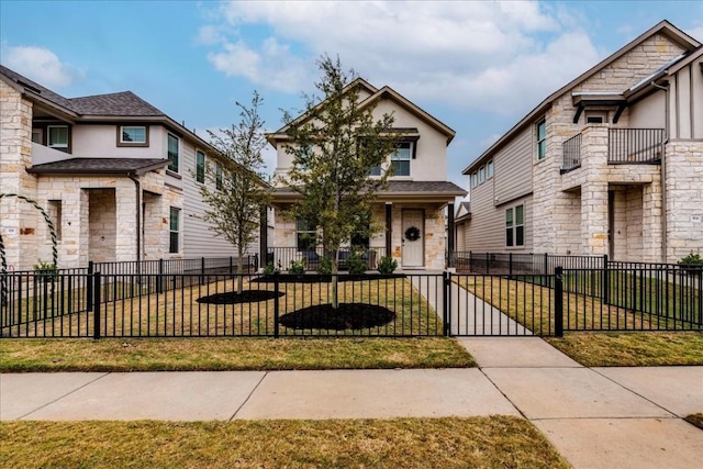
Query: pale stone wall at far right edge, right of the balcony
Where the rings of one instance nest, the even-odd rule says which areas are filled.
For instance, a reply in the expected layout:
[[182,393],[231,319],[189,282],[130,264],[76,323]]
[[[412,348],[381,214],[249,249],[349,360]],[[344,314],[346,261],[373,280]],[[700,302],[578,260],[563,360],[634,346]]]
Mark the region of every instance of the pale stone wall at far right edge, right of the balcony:
[[703,142],[666,147],[667,261],[703,255]]

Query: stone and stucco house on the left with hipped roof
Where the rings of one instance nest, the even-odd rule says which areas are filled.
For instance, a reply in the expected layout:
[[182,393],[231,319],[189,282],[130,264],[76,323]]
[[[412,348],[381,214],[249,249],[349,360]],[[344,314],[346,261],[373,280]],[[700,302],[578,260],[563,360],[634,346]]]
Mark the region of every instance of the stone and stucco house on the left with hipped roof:
[[[130,91],[67,99],[2,66],[0,104],[0,193],[48,212],[58,267],[236,255],[193,216],[216,152],[158,109]],[[0,199],[0,235],[14,270],[52,259],[30,203]]]

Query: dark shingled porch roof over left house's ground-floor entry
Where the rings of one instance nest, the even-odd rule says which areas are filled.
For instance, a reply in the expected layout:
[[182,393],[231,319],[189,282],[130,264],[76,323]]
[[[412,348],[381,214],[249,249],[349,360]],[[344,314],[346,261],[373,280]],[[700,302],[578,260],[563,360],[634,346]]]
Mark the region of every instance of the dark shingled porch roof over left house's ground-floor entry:
[[27,172],[36,175],[142,175],[154,169],[163,168],[166,165],[168,165],[168,159],[71,158],[34,165],[27,169]]

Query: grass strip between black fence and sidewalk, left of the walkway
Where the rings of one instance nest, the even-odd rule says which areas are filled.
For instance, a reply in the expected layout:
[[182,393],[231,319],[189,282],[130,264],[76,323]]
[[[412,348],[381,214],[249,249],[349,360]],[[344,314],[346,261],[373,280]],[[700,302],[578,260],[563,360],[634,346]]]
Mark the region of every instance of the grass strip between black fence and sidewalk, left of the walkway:
[[467,368],[450,338],[11,339],[0,372]]

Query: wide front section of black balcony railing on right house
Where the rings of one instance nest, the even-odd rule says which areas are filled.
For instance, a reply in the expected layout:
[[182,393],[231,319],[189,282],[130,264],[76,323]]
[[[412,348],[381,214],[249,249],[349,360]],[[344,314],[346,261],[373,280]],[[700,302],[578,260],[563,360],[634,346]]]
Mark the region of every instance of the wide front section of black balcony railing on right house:
[[610,129],[607,164],[659,164],[663,155],[663,129]]

